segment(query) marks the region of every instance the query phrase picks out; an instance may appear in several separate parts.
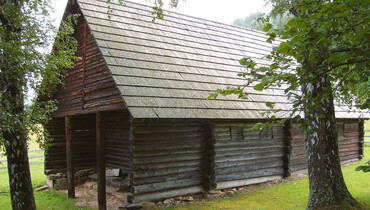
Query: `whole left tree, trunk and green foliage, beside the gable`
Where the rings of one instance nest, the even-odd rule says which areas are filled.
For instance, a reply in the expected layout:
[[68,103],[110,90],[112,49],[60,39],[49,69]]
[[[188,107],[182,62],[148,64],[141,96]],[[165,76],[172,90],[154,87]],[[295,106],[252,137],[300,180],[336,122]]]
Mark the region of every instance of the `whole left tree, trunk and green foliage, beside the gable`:
[[[28,131],[46,130],[37,124],[48,120],[54,101],[33,103],[25,109],[25,93],[34,89],[50,96],[63,78],[63,68],[74,59],[72,19],[62,25],[55,51],[46,49],[55,32],[49,18],[50,2],[0,1],[0,149],[5,150],[13,209],[36,209],[27,154]],[[42,81],[42,82],[41,82]]]

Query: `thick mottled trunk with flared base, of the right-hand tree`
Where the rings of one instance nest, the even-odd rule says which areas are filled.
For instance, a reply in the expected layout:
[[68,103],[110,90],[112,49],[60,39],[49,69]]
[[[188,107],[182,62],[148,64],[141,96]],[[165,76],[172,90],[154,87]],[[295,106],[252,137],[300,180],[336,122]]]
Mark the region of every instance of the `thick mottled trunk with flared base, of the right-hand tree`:
[[303,88],[306,96],[312,94],[305,110],[310,188],[307,209],[358,205],[342,175],[330,81],[326,76],[317,76],[315,81]]

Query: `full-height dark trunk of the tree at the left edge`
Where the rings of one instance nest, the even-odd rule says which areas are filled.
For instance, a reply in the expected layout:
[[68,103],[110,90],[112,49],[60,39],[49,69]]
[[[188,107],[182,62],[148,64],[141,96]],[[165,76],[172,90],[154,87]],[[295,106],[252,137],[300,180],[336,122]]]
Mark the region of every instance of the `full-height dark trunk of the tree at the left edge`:
[[[33,195],[31,173],[27,153],[27,130],[24,123],[25,72],[22,71],[21,55],[21,6],[23,1],[2,0],[0,5],[2,34],[8,46],[3,50],[4,56],[0,69],[0,106],[6,113],[7,126],[2,130],[8,159],[9,186],[14,210],[36,209]],[[20,59],[18,59],[18,57]]]

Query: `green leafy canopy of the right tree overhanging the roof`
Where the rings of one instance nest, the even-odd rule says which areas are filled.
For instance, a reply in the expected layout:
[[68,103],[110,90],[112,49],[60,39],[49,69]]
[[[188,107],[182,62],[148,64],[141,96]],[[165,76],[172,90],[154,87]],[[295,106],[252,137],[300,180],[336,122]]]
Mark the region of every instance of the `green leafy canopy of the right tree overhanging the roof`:
[[[301,87],[315,85],[318,78],[330,81],[330,90],[337,103],[367,109],[370,105],[369,71],[369,1],[344,0],[271,0],[271,17],[290,12],[283,29],[275,29],[265,19],[268,42],[279,41],[265,59],[268,66],[260,66],[250,58],[240,64],[247,70],[239,76],[262,91],[271,86],[286,85],[285,93],[293,101],[291,116],[297,112],[313,113],[325,95],[301,95]],[[279,38],[277,38],[279,37]],[[277,42],[274,42],[277,43]],[[298,63],[298,64],[297,64]],[[246,98],[243,87],[216,90],[219,94],[238,94]],[[306,101],[313,101],[309,106]],[[266,104],[272,107],[273,104]],[[274,116],[272,116],[274,118]]]

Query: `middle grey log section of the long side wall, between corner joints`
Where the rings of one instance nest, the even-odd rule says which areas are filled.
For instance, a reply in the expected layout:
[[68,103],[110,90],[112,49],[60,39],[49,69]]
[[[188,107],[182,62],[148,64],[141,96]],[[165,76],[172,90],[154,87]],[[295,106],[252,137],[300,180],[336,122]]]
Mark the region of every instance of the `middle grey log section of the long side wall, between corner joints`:
[[248,130],[252,125],[239,121],[213,126],[218,189],[231,187],[224,182],[234,180],[283,177],[284,127],[273,126],[259,133]]

